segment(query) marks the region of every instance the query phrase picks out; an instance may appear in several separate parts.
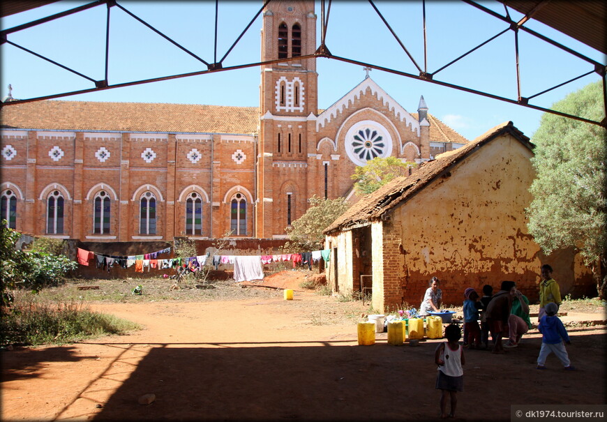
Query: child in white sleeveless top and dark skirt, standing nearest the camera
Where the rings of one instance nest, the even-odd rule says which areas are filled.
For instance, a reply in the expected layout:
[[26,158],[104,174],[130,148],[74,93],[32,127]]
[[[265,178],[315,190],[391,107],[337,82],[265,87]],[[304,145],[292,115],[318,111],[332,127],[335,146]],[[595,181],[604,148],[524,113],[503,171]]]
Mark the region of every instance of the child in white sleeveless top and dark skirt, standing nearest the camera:
[[[436,348],[434,361],[438,365],[436,389],[440,395],[440,417],[453,418],[458,403],[457,392],[464,391],[462,365],[465,364],[464,351],[458,341],[462,337],[456,324],[449,324],[444,329],[447,342],[441,342]],[[447,395],[451,397],[451,412],[447,414]]]

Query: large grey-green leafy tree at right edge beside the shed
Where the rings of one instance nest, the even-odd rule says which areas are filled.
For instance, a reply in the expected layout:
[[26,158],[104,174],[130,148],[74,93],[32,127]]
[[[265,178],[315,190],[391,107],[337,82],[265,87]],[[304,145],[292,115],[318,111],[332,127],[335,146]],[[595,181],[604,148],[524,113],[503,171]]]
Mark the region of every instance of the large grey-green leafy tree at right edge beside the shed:
[[[601,82],[569,94],[552,108],[601,121],[605,118]],[[537,179],[527,209],[527,227],[544,252],[579,250],[602,299],[607,293],[606,141],[601,126],[544,114],[532,139]]]

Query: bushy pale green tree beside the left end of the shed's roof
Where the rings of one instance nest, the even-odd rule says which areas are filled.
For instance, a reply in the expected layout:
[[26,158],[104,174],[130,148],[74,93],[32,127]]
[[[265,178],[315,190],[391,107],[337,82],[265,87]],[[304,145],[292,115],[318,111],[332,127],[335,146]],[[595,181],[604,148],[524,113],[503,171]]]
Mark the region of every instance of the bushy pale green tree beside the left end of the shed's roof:
[[308,199],[308,202],[310,203],[308,211],[294,220],[291,227],[287,227],[289,242],[283,247],[285,251],[314,250],[322,246],[324,241],[322,230],[349,208],[344,198],[323,199],[314,195]]

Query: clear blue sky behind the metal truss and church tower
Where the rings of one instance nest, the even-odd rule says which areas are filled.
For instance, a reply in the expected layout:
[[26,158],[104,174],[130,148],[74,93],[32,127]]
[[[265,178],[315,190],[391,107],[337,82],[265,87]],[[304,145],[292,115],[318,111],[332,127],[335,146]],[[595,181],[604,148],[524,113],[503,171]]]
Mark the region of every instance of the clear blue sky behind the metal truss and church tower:
[[[6,17],[1,21],[1,27],[8,29],[87,3],[89,1],[59,1]],[[215,1],[118,3],[205,61],[213,61]],[[502,3],[480,3],[504,14]],[[375,1],[375,4],[415,61],[424,68],[421,1]],[[218,59],[261,6],[261,0],[219,1]],[[315,11],[318,16],[317,30],[320,31],[320,2],[317,2]],[[509,11],[514,20],[522,17],[515,10]],[[99,6],[12,33],[8,40],[93,79],[102,80],[105,73],[105,13],[105,6]],[[427,1],[426,22],[428,72],[434,72],[507,27],[504,22],[461,1]],[[206,70],[203,63],[177,49],[117,7],[112,8],[110,25],[110,84]],[[532,21],[526,26],[591,59],[606,62],[603,54],[539,22]],[[261,27],[261,17],[258,17],[227,56],[224,66],[260,61]],[[317,35],[319,42],[320,34]],[[522,31],[519,33],[519,46],[523,96],[531,96],[592,70],[592,66],[585,61]],[[327,47],[335,56],[417,74],[417,68],[367,1],[341,0],[332,3]],[[93,86],[89,80],[12,45],[1,45],[0,54],[1,96],[8,93],[8,84],[12,84],[15,98],[45,96]],[[442,70],[435,78],[516,99],[514,58],[514,33],[507,31],[470,56]],[[331,59],[317,59],[317,72],[320,108],[329,107],[365,76],[361,66]],[[370,76],[409,112],[417,112],[419,97],[423,95],[430,113],[470,140],[504,121],[513,121],[527,136],[532,136],[539,126],[542,112],[537,110],[380,70],[372,70]],[[568,93],[599,78],[593,73],[534,98],[532,103],[550,107]],[[253,67],[60,99],[257,106],[259,84],[260,69]]]

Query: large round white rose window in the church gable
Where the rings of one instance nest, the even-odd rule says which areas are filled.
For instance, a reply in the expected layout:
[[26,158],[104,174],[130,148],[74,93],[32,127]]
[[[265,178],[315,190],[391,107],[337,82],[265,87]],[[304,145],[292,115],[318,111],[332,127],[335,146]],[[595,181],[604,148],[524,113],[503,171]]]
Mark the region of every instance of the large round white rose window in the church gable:
[[375,121],[359,121],[345,135],[347,156],[356,165],[366,165],[368,160],[385,158],[392,153],[389,132]]

